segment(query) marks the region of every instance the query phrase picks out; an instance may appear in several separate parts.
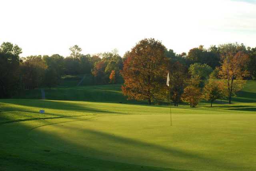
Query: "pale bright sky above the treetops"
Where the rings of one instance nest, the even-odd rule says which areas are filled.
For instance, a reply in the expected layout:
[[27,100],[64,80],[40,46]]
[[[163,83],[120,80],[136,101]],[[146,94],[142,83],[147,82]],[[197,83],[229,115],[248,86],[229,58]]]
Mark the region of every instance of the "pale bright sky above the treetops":
[[256,47],[256,0],[1,0],[0,44],[28,55],[70,55],[118,49],[144,38],[176,53],[244,43]]

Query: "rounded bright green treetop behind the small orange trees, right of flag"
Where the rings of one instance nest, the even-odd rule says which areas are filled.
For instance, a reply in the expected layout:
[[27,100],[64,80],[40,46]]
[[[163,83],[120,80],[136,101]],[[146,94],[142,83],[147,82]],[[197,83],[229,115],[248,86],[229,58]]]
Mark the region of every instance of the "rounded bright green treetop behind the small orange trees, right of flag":
[[194,63],[188,68],[188,72],[192,77],[199,76],[202,80],[208,79],[212,68],[206,64]]

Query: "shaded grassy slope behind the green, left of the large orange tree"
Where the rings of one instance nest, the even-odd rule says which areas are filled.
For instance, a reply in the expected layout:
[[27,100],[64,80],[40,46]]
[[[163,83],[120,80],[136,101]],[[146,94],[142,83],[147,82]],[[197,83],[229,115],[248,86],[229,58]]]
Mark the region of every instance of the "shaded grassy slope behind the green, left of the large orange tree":
[[[73,81],[73,80],[72,80]],[[69,84],[65,81],[65,84]],[[100,85],[100,86],[58,86],[56,88],[45,88],[46,98],[49,100],[83,100],[93,102],[136,102],[128,101],[123,96],[121,85]],[[14,98],[40,99],[40,89],[26,90],[23,95]],[[146,104],[146,103],[145,103]]]

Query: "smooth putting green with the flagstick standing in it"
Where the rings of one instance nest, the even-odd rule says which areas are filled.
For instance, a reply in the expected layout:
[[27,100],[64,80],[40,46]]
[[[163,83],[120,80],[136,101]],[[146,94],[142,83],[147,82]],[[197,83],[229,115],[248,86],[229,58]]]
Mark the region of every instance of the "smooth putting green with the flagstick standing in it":
[[256,170],[256,115],[108,115],[60,118],[29,132],[70,155],[184,170]]

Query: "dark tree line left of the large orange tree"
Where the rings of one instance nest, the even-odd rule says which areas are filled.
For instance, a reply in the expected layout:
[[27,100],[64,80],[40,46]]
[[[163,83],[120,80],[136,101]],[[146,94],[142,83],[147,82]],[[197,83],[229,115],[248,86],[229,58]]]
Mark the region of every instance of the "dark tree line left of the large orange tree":
[[114,49],[97,55],[84,55],[78,45],[70,47],[70,56],[32,55],[20,57],[18,45],[4,42],[0,46],[0,98],[10,98],[26,89],[51,88],[63,75],[86,75],[88,85],[123,83],[120,70],[123,59]]

